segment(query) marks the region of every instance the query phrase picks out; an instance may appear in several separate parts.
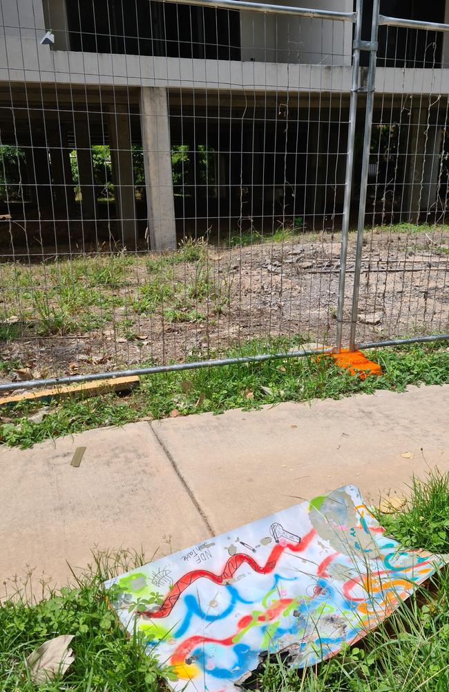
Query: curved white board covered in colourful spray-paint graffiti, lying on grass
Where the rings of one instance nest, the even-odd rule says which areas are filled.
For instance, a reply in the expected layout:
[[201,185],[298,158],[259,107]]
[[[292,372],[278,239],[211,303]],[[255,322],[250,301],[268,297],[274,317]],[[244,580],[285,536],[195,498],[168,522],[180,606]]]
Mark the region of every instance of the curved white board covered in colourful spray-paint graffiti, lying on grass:
[[264,652],[303,667],[392,612],[439,560],[384,535],[352,485],[106,583],[176,691],[230,691]]

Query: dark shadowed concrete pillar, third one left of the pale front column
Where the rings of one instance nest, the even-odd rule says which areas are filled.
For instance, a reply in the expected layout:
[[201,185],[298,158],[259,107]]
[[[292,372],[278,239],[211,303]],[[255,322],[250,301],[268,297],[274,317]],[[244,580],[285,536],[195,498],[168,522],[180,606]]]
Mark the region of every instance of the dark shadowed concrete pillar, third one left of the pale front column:
[[48,134],[48,143],[55,206],[67,214],[75,206],[75,192],[66,131],[59,123]]

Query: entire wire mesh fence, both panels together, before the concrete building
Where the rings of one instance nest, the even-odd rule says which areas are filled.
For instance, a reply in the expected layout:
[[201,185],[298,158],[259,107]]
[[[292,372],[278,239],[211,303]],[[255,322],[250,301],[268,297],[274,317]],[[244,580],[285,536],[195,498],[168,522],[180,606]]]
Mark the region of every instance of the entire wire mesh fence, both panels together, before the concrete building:
[[3,373],[449,331],[449,26],[353,9],[3,2]]

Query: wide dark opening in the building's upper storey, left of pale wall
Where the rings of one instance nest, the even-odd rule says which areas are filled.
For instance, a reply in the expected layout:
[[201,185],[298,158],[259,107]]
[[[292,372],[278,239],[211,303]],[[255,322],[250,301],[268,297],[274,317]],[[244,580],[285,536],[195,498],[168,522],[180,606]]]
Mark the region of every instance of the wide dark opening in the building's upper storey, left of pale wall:
[[88,53],[240,60],[240,13],[178,3],[68,3],[70,49]]

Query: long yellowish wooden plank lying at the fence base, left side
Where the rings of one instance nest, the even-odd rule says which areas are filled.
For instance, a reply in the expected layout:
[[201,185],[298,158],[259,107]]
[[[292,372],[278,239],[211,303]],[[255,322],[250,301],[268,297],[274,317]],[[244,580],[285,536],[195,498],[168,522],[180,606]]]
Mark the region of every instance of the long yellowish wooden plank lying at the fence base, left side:
[[19,401],[50,401],[50,399],[67,399],[68,397],[96,397],[106,392],[125,392],[137,387],[140,380],[137,376],[111,377],[94,382],[80,382],[77,385],[52,387],[51,389],[36,389],[21,394],[10,394],[0,399],[0,406],[13,405]]

